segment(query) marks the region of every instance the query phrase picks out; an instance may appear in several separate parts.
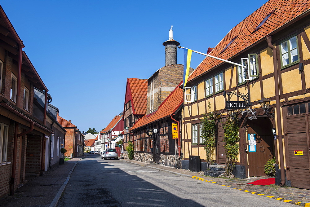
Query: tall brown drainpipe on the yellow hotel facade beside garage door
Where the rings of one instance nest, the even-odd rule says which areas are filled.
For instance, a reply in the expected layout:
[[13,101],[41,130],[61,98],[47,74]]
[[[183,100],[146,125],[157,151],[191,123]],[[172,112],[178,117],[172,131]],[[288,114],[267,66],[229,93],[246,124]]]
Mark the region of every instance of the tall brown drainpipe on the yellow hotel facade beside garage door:
[[280,95],[279,95],[279,77],[278,77],[278,67],[277,67],[277,50],[272,45],[272,37],[265,37],[268,46],[272,49],[273,56],[273,71],[274,71],[274,86],[276,92],[276,110],[277,110],[277,131],[279,140],[279,156],[280,156],[280,166],[281,166],[281,183],[280,186],[285,184],[285,171],[284,171],[284,155],[283,155],[283,143],[282,143],[282,126],[281,126],[281,108],[280,108]]

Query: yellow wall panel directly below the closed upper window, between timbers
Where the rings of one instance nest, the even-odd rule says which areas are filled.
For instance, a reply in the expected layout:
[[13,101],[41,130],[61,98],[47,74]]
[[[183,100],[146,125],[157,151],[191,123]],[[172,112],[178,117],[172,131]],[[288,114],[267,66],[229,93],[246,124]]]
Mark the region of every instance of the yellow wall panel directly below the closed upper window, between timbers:
[[301,85],[301,75],[299,73],[298,69],[282,73],[282,87],[284,94],[303,89],[303,86]]

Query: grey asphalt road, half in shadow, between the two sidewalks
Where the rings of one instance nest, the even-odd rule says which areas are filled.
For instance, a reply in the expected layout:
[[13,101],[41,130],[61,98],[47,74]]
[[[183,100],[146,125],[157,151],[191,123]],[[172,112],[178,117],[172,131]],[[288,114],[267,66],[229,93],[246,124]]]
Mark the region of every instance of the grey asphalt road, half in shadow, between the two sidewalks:
[[77,163],[58,206],[295,206],[100,155]]

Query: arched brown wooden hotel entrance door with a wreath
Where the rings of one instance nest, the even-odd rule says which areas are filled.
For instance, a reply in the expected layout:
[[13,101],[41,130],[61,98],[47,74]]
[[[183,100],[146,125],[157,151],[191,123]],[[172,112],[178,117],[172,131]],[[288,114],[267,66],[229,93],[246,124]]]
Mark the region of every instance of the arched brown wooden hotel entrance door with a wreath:
[[257,118],[247,120],[247,125],[247,133],[256,134],[256,152],[248,152],[249,176],[266,176],[264,165],[273,158],[272,123],[268,118]]

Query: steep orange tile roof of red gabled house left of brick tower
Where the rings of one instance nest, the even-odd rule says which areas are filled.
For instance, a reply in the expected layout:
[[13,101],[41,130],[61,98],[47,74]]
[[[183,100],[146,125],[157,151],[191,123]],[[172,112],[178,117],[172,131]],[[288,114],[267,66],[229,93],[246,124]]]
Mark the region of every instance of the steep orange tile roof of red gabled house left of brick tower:
[[133,114],[145,114],[148,94],[147,79],[128,78],[132,96]]

